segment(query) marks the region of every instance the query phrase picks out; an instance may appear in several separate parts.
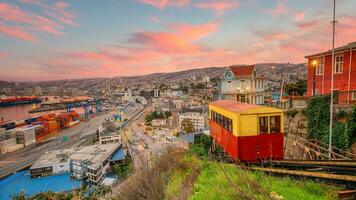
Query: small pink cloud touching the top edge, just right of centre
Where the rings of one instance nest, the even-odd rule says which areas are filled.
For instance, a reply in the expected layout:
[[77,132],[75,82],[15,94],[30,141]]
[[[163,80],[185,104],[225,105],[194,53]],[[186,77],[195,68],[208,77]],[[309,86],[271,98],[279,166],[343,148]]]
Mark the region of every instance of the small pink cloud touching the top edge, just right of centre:
[[237,8],[238,4],[233,1],[211,1],[211,2],[199,2],[195,4],[199,9],[212,10],[217,16],[222,15],[227,10]]

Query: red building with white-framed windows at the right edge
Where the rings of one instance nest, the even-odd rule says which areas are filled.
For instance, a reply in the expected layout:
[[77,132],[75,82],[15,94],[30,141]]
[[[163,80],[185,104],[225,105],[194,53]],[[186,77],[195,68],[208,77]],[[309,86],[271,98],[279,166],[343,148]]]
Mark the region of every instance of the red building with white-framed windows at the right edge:
[[[308,96],[330,94],[331,50],[305,56],[305,58],[308,59]],[[356,42],[335,49],[333,73],[334,94],[337,103],[356,103]]]

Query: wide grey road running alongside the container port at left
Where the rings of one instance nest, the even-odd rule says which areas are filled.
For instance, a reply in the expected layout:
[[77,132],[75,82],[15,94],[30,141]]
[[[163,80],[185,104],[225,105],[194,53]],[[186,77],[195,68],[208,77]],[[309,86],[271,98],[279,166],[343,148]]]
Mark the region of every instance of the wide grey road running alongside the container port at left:
[[[126,111],[125,118],[130,119],[137,114],[142,106],[129,107]],[[89,121],[81,122],[75,127],[61,131],[56,137],[41,144],[34,144],[22,150],[7,153],[0,157],[0,178],[9,173],[30,166],[41,155],[47,151],[58,150],[61,148],[70,148],[78,142],[90,137],[95,137],[95,132],[102,122],[112,116],[113,113],[102,113]],[[122,123],[119,123],[119,125]],[[67,136],[69,139],[62,142],[62,137]]]

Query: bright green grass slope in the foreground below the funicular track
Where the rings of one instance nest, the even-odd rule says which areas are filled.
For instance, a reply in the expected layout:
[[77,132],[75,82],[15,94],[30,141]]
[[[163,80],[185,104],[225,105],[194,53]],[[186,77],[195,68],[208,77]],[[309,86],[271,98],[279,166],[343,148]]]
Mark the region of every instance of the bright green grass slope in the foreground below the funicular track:
[[189,199],[336,199],[336,186],[312,180],[275,177],[238,169],[232,164],[203,161]]

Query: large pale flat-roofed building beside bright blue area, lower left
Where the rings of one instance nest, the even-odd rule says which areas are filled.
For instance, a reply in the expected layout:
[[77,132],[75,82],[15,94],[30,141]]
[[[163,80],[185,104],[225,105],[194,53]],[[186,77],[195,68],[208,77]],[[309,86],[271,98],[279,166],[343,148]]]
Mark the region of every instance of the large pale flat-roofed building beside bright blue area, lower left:
[[110,158],[120,146],[112,143],[51,151],[31,166],[30,174],[39,177],[70,172],[77,180],[84,179],[90,185],[97,185],[104,179]]

